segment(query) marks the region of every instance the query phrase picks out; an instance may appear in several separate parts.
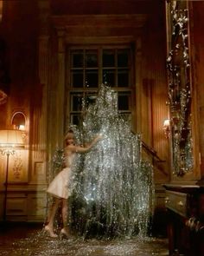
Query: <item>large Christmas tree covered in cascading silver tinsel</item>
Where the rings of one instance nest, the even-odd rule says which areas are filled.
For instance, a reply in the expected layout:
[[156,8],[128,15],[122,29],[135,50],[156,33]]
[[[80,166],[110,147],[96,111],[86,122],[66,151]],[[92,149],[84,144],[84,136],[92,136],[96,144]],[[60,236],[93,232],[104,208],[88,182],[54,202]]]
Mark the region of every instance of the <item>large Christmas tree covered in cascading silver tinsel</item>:
[[141,159],[140,135],[134,135],[118,114],[117,100],[117,93],[102,85],[96,102],[83,115],[80,132],[75,128],[78,138],[86,138],[83,142],[103,136],[73,164],[70,226],[85,237],[144,237],[150,224],[153,170]]

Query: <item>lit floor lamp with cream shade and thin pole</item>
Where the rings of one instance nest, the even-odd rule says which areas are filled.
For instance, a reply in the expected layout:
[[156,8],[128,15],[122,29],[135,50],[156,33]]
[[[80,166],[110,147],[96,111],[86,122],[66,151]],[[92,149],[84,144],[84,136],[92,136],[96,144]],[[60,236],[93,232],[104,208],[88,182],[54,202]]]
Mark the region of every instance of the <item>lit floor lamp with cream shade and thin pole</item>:
[[17,149],[24,148],[23,134],[21,130],[0,130],[0,154],[6,155],[5,189],[3,201],[3,221],[6,221],[8,179],[10,155],[16,153]]

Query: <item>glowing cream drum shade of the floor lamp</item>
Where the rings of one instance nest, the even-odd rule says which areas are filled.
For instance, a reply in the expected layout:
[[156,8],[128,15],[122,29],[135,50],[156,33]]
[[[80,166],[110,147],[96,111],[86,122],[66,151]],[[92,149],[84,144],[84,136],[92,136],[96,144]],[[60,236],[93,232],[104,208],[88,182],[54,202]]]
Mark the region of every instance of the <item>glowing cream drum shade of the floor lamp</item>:
[[20,130],[0,130],[1,148],[23,148],[23,135]]

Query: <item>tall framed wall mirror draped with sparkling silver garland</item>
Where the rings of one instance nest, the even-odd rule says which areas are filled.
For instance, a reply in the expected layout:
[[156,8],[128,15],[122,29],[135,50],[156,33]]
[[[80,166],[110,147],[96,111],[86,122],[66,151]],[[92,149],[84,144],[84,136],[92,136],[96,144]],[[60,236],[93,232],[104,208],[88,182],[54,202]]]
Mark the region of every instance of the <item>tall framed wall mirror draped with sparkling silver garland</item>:
[[170,1],[169,11],[169,111],[173,174],[192,172],[192,82],[189,57],[188,3]]

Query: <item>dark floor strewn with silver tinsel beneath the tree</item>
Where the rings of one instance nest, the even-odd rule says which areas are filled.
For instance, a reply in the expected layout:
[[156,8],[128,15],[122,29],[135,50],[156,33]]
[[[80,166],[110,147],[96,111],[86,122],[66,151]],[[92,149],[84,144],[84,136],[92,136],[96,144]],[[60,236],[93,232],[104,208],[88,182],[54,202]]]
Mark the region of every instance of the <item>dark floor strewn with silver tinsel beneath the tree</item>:
[[8,224],[0,230],[1,256],[167,256],[168,240],[150,237],[145,240],[70,240],[52,239],[39,224]]

